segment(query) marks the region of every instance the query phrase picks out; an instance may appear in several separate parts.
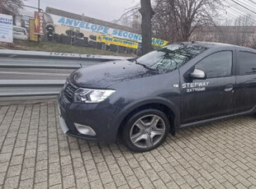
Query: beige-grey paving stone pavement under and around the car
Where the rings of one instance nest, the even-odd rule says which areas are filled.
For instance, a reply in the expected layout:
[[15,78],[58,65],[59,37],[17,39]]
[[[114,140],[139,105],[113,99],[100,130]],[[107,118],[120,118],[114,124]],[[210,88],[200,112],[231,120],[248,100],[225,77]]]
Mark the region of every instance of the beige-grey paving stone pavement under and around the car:
[[55,100],[0,106],[0,188],[256,188],[256,118],[183,128],[157,150],[64,136]]

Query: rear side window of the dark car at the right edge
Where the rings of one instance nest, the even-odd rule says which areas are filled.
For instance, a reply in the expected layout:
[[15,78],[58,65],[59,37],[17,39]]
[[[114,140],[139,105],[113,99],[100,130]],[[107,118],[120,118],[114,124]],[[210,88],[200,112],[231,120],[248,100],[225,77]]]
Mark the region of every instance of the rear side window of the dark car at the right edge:
[[256,73],[256,54],[239,52],[239,75]]

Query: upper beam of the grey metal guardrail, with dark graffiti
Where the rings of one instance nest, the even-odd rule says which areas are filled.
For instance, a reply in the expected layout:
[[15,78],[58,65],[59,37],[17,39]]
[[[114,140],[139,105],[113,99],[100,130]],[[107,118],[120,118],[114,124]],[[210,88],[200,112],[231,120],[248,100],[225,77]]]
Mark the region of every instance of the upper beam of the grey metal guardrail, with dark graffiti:
[[78,53],[55,53],[0,49],[0,67],[70,68],[88,67],[97,63],[132,59]]

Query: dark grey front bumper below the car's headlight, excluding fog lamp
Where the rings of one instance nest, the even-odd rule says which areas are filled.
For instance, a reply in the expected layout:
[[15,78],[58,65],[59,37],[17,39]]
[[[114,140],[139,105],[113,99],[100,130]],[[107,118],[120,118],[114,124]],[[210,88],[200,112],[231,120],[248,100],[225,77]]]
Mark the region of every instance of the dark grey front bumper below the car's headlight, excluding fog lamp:
[[[107,100],[100,104],[69,103],[60,92],[58,108],[59,125],[65,135],[104,143],[116,141],[116,131],[119,124],[115,122],[115,119],[121,109],[110,104]],[[96,136],[81,134],[74,123],[91,127],[96,132]]]

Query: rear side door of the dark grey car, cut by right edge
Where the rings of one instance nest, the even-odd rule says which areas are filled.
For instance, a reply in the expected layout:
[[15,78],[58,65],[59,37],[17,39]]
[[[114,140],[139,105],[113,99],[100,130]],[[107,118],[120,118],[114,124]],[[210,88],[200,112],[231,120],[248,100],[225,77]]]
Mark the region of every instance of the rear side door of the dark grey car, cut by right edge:
[[256,53],[238,49],[235,113],[252,111],[256,105]]

